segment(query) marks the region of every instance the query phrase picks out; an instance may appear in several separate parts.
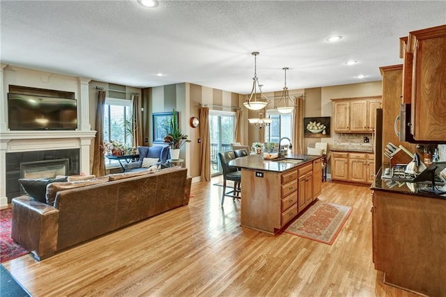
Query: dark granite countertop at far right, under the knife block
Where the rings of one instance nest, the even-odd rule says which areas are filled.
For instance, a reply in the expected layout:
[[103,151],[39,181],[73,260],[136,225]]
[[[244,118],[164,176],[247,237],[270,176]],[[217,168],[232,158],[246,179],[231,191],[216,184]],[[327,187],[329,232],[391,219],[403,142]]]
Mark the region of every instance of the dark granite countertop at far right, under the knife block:
[[[446,194],[443,195],[433,195],[429,192],[423,192],[423,189],[431,188],[431,185],[427,185],[426,183],[407,183],[403,181],[392,181],[390,179],[382,179],[381,172],[383,168],[388,166],[383,166],[380,168],[378,174],[376,174],[376,178],[374,183],[371,184],[371,190],[380,190],[385,192],[394,192],[399,194],[406,195],[415,195],[422,196],[428,198],[437,198],[437,199],[446,199]],[[438,190],[446,191],[445,186],[437,186]]]

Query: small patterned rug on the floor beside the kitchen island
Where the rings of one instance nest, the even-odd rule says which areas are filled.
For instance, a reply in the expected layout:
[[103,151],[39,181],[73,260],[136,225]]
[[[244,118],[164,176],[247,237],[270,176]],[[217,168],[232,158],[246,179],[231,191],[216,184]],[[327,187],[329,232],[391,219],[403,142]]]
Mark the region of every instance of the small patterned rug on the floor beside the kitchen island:
[[316,201],[285,232],[332,245],[353,208]]

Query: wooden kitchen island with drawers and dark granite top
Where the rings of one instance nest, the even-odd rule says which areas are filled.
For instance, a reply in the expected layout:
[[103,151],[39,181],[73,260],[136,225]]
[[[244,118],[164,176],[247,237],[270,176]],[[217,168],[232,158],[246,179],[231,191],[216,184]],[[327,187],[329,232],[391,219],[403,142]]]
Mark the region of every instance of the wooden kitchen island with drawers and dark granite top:
[[242,171],[240,225],[277,234],[321,192],[322,157],[247,155],[229,162]]

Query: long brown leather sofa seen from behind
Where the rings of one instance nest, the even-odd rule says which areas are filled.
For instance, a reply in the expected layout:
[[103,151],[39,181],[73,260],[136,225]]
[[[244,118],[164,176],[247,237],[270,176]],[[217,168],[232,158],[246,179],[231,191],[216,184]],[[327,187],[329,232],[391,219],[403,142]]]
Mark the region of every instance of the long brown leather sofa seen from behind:
[[11,236],[40,261],[77,243],[187,205],[191,181],[186,168],[175,167],[61,190],[54,206],[26,195],[16,197]]

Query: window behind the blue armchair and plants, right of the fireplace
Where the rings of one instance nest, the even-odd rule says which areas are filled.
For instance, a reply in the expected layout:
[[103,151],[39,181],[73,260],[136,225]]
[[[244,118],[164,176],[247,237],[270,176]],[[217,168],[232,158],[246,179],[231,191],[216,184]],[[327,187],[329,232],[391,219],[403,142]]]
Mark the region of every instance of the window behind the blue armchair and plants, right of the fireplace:
[[[111,142],[115,140],[128,146],[133,145],[131,128],[132,100],[106,98],[103,118],[104,131],[102,136],[104,137],[104,142]],[[128,123],[130,123],[130,126]],[[119,165],[118,161],[109,160],[107,158],[105,158],[105,164]]]

